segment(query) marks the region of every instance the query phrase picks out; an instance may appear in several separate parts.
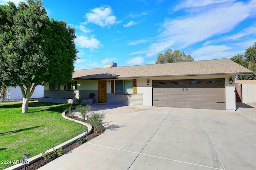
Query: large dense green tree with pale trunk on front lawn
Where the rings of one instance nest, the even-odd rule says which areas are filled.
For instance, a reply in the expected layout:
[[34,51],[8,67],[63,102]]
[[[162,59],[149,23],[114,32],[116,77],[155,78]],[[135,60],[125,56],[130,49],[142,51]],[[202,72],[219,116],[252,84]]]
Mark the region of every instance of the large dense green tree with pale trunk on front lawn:
[[75,38],[65,21],[49,20],[41,0],[0,6],[0,86],[20,86],[22,113],[36,86],[72,79]]

